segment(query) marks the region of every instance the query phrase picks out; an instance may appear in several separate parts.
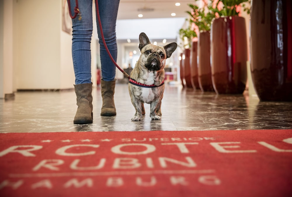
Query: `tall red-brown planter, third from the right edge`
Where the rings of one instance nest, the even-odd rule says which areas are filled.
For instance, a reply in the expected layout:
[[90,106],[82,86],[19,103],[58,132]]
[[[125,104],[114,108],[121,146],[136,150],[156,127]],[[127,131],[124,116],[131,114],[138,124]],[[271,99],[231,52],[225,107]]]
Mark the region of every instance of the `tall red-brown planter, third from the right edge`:
[[210,32],[201,31],[198,42],[198,81],[200,89],[214,91],[210,65]]

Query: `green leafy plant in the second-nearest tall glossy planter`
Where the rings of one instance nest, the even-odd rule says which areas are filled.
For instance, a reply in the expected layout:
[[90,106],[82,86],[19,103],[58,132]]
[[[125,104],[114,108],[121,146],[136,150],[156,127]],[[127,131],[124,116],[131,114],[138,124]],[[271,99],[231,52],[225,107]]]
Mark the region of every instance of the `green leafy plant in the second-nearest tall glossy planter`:
[[240,4],[244,8],[244,12],[250,13],[250,6],[247,7],[246,3],[250,5],[251,0],[219,0],[216,7],[218,7],[220,2],[223,5],[221,12],[224,16],[238,16],[239,12],[236,9]]

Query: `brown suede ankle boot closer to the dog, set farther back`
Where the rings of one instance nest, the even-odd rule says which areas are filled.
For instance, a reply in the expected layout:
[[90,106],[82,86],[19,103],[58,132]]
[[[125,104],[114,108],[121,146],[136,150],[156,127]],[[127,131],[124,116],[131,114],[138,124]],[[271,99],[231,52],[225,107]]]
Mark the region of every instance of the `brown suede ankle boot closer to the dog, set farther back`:
[[103,81],[101,80],[101,96],[102,107],[100,116],[115,116],[116,107],[114,105],[114,88],[116,81]]

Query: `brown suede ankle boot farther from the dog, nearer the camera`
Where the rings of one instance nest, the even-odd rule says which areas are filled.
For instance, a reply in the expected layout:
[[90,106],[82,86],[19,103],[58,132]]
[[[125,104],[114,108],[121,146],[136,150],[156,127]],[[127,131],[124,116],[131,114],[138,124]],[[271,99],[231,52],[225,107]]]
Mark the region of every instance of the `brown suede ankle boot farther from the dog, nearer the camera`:
[[77,111],[74,124],[88,124],[93,122],[92,114],[92,83],[74,85],[77,97]]

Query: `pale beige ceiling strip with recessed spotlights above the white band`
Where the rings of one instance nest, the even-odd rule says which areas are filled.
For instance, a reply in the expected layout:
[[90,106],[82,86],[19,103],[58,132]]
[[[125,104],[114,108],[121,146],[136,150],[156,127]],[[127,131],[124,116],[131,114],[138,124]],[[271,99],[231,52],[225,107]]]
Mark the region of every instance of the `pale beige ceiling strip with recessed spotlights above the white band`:
[[138,19],[138,14],[143,14],[142,19],[170,18],[171,13],[176,14],[174,17],[187,17],[188,3],[194,0],[120,0],[118,19]]

